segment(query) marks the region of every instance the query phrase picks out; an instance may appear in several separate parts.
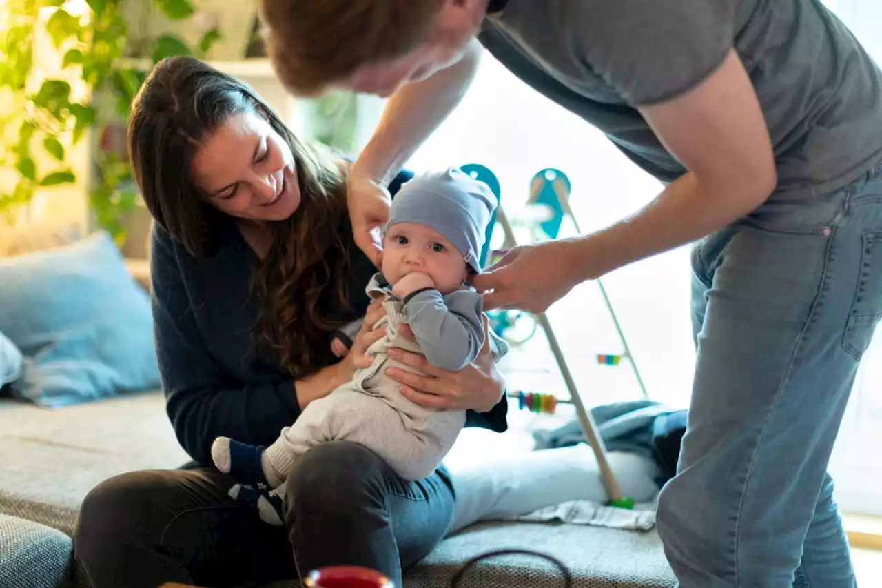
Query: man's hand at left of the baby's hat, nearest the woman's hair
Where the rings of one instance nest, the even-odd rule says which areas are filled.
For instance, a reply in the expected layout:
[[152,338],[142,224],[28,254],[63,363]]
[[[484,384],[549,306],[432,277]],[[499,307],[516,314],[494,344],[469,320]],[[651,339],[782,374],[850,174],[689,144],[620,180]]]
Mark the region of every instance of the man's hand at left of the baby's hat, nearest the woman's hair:
[[379,268],[383,253],[380,228],[389,220],[392,205],[389,191],[372,177],[352,170],[346,185],[346,205],[355,245]]

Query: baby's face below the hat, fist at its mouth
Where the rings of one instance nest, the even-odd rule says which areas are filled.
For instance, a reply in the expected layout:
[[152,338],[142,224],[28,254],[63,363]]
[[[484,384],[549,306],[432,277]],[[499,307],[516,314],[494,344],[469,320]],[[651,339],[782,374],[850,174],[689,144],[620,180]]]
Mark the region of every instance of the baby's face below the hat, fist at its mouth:
[[419,272],[429,275],[442,294],[457,290],[468,275],[466,260],[450,241],[414,222],[398,222],[386,233],[382,265],[392,285]]

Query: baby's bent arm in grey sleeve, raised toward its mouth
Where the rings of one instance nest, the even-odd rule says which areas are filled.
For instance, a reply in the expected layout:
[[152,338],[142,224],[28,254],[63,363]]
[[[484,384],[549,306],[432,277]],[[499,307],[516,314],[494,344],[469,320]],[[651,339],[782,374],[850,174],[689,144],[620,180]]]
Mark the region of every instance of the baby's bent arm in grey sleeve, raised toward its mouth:
[[407,324],[432,366],[461,370],[484,344],[483,298],[473,290],[442,297],[434,288],[416,290],[404,300]]

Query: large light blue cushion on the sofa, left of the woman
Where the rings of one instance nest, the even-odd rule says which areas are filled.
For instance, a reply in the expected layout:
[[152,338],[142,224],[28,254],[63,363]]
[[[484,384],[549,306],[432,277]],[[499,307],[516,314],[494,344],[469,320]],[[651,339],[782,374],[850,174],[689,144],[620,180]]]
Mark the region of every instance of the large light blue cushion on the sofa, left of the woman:
[[13,396],[57,407],[159,386],[150,299],[105,231],[0,260],[0,309],[25,355]]

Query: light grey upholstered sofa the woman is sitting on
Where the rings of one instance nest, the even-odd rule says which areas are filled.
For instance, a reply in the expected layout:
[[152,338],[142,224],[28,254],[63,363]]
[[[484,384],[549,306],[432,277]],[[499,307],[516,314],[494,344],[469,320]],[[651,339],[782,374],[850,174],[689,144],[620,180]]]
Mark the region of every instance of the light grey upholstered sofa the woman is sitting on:
[[[188,459],[162,400],[153,392],[56,411],[0,400],[0,588],[89,585],[72,558],[70,539],[89,489],[116,473],[175,468]],[[674,585],[654,531],[527,523],[460,531],[408,570],[405,585],[441,588],[472,556],[525,547],[557,556],[579,588]],[[480,563],[460,585],[563,583],[548,562],[512,555]]]

